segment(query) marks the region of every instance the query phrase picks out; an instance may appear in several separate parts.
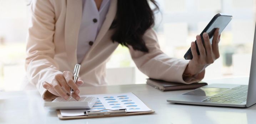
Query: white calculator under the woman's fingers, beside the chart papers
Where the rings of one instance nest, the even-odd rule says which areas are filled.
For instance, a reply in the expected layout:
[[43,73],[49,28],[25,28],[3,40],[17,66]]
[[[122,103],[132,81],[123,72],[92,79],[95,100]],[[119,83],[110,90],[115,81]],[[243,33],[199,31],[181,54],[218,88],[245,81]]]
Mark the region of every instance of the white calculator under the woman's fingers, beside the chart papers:
[[80,97],[80,101],[76,101],[73,97],[69,97],[68,100],[57,97],[51,102],[44,102],[44,107],[48,109],[91,109],[97,101],[97,97]]

